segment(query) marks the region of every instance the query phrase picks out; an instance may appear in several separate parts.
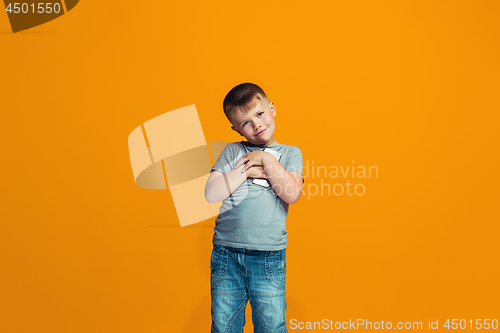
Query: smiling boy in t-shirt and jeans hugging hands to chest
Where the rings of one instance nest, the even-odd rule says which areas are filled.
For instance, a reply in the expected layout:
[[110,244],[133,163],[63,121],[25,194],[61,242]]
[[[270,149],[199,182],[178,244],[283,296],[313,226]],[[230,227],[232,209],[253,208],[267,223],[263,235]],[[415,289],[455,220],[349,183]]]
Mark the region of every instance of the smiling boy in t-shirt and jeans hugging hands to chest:
[[234,87],[223,109],[247,141],[226,146],[205,187],[208,202],[223,201],[210,259],[212,333],[243,332],[249,300],[254,332],[288,332],[285,221],[302,193],[302,153],[276,142],[276,109],[259,86]]

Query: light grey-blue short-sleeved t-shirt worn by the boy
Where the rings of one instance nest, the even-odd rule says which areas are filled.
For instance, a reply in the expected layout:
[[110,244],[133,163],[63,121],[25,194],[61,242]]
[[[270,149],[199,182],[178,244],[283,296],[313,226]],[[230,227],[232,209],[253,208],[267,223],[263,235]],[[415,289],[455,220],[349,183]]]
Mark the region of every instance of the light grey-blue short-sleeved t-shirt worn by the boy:
[[[228,173],[243,154],[264,148],[281,153],[280,164],[285,170],[302,174],[299,148],[285,144],[254,145],[248,141],[228,144],[210,172]],[[282,250],[287,244],[287,214],[288,204],[271,186],[257,185],[247,178],[222,202],[215,219],[213,244],[248,250]]]

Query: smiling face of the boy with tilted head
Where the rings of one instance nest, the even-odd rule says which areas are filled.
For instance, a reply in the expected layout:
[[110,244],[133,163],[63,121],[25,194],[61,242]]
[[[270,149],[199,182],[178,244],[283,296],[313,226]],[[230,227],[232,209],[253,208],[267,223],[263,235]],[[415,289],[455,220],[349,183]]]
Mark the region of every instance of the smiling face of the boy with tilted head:
[[255,145],[276,144],[274,140],[276,109],[273,102],[265,104],[257,100],[257,106],[253,110],[248,113],[236,111],[231,117],[233,124],[231,128]]

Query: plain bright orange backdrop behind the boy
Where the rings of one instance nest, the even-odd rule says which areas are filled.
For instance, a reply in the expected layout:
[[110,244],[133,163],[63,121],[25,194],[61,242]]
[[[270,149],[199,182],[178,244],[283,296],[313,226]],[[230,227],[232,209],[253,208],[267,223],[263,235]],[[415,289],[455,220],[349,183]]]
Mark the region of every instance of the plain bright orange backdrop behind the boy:
[[379,168],[351,179],[363,196],[290,206],[287,320],[500,319],[499,14],[84,0],[12,34],[0,13],[0,331],[209,330],[215,218],[180,228],[168,190],[135,185],[127,137],[196,104],[207,141],[239,141],[221,105],[242,82],[304,163]]

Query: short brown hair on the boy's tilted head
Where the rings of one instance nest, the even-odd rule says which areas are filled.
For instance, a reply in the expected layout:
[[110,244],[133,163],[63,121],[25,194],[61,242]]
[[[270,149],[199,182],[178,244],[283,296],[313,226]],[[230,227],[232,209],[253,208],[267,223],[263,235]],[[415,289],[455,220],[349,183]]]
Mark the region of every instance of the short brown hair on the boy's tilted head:
[[222,108],[227,119],[231,121],[230,117],[236,111],[248,112],[255,108],[258,103],[257,100],[260,100],[265,105],[269,104],[269,99],[261,87],[249,82],[242,83],[227,93]]

